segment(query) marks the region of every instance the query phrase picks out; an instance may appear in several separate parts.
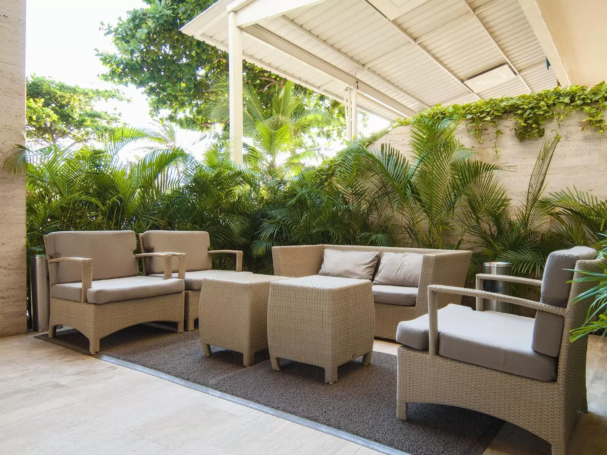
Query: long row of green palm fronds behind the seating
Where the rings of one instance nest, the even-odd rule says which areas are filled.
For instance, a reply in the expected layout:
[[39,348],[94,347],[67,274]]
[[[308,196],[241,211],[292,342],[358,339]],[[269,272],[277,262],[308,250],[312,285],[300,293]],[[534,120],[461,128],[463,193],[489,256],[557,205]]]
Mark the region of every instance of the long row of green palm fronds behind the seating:
[[[40,251],[42,235],[57,230],[203,229],[214,248],[243,249],[253,271],[271,271],[274,245],[336,243],[473,248],[472,271],[483,260],[503,259],[518,274],[537,275],[549,252],[586,243],[604,222],[605,202],[588,195],[543,197],[558,136],[538,154],[517,210],[495,174],[500,167],[476,160],[450,120],[416,121],[410,159],[353,141],[319,166],[280,161],[282,152],[296,156],[285,146],[293,129],[289,87],[273,108],[285,114],[283,123],[257,122],[242,166],[230,160],[229,141],[217,141],[197,161],[173,146],[170,132],[129,128],[77,151],[22,149],[5,167],[27,175],[30,249]],[[121,148],[139,140],[157,146],[135,163],[120,161]],[[562,223],[552,227],[555,215]],[[566,226],[582,229],[584,241]]]

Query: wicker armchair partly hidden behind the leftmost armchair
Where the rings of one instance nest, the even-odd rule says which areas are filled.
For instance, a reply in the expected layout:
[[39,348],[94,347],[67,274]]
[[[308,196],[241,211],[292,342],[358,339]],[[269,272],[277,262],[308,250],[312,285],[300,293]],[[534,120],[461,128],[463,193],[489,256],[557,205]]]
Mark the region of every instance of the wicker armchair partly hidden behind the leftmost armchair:
[[[146,231],[139,234],[141,251],[174,251],[186,254],[185,272],[178,274],[178,263],[172,263],[172,276],[183,278],[186,285],[185,321],[186,330],[194,330],[194,321],[198,318],[198,301],[200,288],[204,278],[217,277],[242,272],[242,251],[220,249],[209,251],[211,240],[205,231]],[[212,269],[212,254],[235,254],[236,271]],[[248,273],[248,272],[245,272]],[[148,257],[144,261],[143,274],[150,277],[160,277],[163,274],[163,263],[160,258]]]

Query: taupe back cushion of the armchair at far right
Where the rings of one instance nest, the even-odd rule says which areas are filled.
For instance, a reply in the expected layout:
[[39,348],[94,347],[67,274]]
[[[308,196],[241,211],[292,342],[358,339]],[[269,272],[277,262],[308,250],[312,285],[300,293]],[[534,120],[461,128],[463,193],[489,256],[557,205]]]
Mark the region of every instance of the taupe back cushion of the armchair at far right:
[[[585,246],[553,251],[546,260],[541,280],[541,303],[566,308],[571,296],[571,281],[578,260],[592,260],[597,252]],[[569,269],[569,270],[568,270]],[[531,348],[546,356],[558,357],[563,337],[564,319],[558,314],[538,311],[535,314]]]

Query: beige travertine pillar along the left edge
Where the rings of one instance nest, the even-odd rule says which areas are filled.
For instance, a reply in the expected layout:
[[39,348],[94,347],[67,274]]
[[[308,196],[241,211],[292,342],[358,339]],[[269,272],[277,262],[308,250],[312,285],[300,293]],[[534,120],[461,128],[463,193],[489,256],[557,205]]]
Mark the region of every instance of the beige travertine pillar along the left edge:
[[25,0],[0,0],[0,337],[25,333],[25,178],[1,164],[24,143]]

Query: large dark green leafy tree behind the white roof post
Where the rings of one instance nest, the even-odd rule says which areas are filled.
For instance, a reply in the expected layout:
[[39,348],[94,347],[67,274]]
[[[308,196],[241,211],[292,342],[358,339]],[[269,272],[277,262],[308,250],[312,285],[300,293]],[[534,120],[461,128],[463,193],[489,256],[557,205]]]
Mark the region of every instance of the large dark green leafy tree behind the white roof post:
[[[116,25],[102,24],[118,52],[98,50],[108,68],[101,78],[116,84],[132,84],[149,98],[152,115],[186,129],[205,131],[214,120],[204,108],[217,78],[228,70],[228,55],[203,41],[179,31],[214,0],[144,0],[149,7],[132,10]],[[270,109],[274,86],[285,79],[243,62],[244,82],[258,93],[260,106]],[[319,135],[341,136],[344,109],[341,103],[305,90],[308,106],[323,109],[340,123],[319,128]]]

